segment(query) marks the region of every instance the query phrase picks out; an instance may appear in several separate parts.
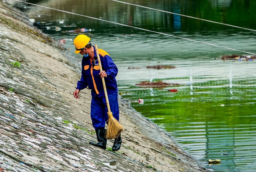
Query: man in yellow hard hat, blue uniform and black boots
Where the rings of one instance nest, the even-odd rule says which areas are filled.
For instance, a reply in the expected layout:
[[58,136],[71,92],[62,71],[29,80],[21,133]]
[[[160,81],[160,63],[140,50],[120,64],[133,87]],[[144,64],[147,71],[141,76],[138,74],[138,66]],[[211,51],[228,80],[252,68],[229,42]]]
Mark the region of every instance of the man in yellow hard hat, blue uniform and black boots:
[[[89,142],[89,144],[97,146],[102,149],[106,149],[107,139],[106,124],[108,119],[107,103],[105,98],[105,92],[103,89],[102,77],[105,77],[107,96],[109,99],[110,110],[113,113],[113,117],[119,121],[119,108],[118,108],[118,88],[117,88],[117,66],[109,54],[98,49],[100,62],[102,64],[102,72],[100,72],[99,62],[95,50],[95,46],[92,46],[90,38],[84,34],[78,35],[74,39],[74,46],[76,48],[75,53],[83,55],[82,60],[82,76],[80,81],[77,82],[76,90],[73,95],[75,98],[79,98],[79,92],[88,86],[91,89],[91,119],[92,126],[96,131],[98,143]],[[122,144],[121,134],[114,139],[113,151],[120,149]]]

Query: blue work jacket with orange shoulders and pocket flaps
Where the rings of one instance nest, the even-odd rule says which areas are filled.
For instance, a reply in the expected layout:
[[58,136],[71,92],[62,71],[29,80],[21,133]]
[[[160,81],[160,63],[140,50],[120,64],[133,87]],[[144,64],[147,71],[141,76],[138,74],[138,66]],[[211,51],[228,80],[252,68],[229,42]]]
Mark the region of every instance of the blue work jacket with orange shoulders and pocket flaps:
[[[93,46],[94,47],[94,46]],[[117,88],[117,66],[113,60],[107,54],[106,51],[98,49],[99,57],[102,65],[102,70],[105,70],[107,77],[105,77],[105,83],[107,88],[107,94],[112,94],[118,91]],[[92,94],[96,94],[98,97],[105,96],[102,78],[100,78],[99,62],[94,47],[94,58],[92,64],[89,57],[83,57],[82,60],[82,76],[80,81],[77,82],[77,89],[81,90],[88,86],[91,89]]]

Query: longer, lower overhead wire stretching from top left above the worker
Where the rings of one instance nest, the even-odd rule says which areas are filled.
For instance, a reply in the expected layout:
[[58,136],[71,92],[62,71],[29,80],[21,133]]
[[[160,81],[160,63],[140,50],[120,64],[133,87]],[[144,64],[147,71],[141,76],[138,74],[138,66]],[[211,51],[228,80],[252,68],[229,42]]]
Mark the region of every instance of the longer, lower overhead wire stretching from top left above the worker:
[[216,47],[221,47],[221,48],[225,48],[225,49],[229,49],[229,50],[240,51],[240,52],[243,52],[243,53],[248,53],[248,54],[256,55],[255,53],[250,53],[250,52],[247,52],[247,51],[237,50],[237,49],[233,49],[233,48],[229,48],[229,47],[225,47],[225,46],[219,46],[219,45],[215,45],[215,44],[207,43],[207,42],[202,42],[202,41],[195,41],[195,40],[189,39],[189,38],[178,37],[178,36],[175,36],[175,35],[165,34],[165,33],[157,32],[157,31],[152,31],[152,30],[147,30],[147,29],[144,29],[144,28],[139,28],[139,27],[129,26],[129,25],[126,25],[126,24],[121,24],[121,23],[112,22],[112,21],[108,21],[108,20],[98,19],[98,18],[94,18],[94,17],[91,17],[91,16],[76,14],[76,13],[69,12],[69,11],[64,11],[64,10],[61,10],[61,9],[56,9],[56,8],[51,8],[51,7],[45,7],[45,6],[39,5],[39,4],[28,3],[28,2],[21,1],[21,0],[14,0],[14,1],[18,1],[18,2],[21,2],[21,3],[30,4],[30,5],[34,5],[34,6],[38,6],[38,7],[44,7],[44,8],[48,8],[48,9],[53,9],[53,10],[60,11],[60,12],[65,12],[65,13],[68,13],[68,14],[83,16],[83,17],[87,17],[87,18],[90,18],[90,19],[100,20],[100,21],[103,21],[103,22],[109,22],[109,23],[113,23],[113,24],[118,24],[118,25],[121,25],[121,26],[126,26],[126,27],[136,28],[136,29],[139,29],[139,30],[149,31],[149,32],[152,32],[152,33],[161,34],[161,35],[166,35],[166,36],[169,36],[169,37],[175,37],[175,38],[185,39],[185,40],[187,40],[187,41],[193,41],[193,42],[198,42],[198,43],[204,43],[204,44],[206,44],[206,45],[211,45],[211,46],[216,46]]

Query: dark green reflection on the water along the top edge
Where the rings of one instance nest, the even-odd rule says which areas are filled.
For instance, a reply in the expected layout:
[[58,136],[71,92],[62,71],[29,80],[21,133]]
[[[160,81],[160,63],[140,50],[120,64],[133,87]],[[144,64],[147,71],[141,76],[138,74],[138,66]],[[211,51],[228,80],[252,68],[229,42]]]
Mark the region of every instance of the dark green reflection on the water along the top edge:
[[[34,1],[31,2],[34,3]],[[41,0],[38,2],[38,4],[46,7],[61,9],[63,11],[69,11],[79,15],[86,15],[94,18],[109,20],[112,22],[127,24],[129,26],[136,26],[155,31],[164,31],[167,33],[174,31],[188,31],[190,33],[194,31],[201,32],[201,30],[217,31],[223,30],[223,28],[233,30],[232,27],[227,27],[220,24],[167,14],[160,11],[153,11],[150,9],[122,4],[111,0],[77,0],[76,3],[74,3],[72,0],[65,0],[64,2],[60,0]],[[255,1],[250,1],[248,3],[246,0],[150,0],[147,2],[143,2],[142,0],[133,0],[129,1],[129,3],[144,5],[150,8],[175,12],[178,14],[193,16],[201,19],[212,20],[215,22],[227,23],[235,26],[255,28],[255,25],[253,24],[256,19],[256,15],[254,15],[255,10],[253,10],[256,6]],[[241,8],[245,8],[245,10]],[[103,24],[104,28],[100,30],[101,32],[104,32],[105,29],[108,30],[108,28],[119,28],[119,26],[115,24],[106,22],[104,23],[99,20],[89,19],[83,16],[66,14],[64,12],[58,12],[52,9],[28,6],[26,7],[26,10],[29,10],[30,17],[37,19],[36,22],[39,20],[40,22],[49,22],[50,17],[52,22],[55,24],[58,24],[58,20],[65,19],[65,23],[63,23],[65,26],[76,25],[80,28],[93,26],[97,29],[101,29]],[[40,19],[37,18],[39,14]],[[236,20],[233,20],[234,18],[236,18]],[[246,32],[245,30],[241,31]],[[116,32],[118,32],[118,30],[116,30]],[[123,33],[124,30],[119,30],[119,33],[120,32]]]

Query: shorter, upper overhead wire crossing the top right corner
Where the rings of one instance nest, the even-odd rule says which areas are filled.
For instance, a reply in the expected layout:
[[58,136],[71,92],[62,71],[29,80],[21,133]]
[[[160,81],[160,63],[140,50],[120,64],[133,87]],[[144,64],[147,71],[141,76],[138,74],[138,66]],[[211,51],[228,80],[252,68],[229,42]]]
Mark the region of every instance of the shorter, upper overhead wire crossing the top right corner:
[[200,18],[196,18],[196,17],[192,17],[192,16],[187,16],[187,15],[178,14],[178,13],[174,13],[174,12],[164,11],[164,10],[156,9],[156,8],[150,8],[150,7],[146,7],[146,6],[142,6],[142,5],[137,5],[137,4],[131,4],[131,3],[127,3],[127,2],[123,2],[123,1],[118,1],[118,0],[111,0],[111,1],[115,1],[115,2],[123,3],[123,4],[128,4],[128,5],[134,5],[134,6],[136,6],[136,7],[142,7],[142,8],[152,9],[152,10],[155,10],[155,11],[165,12],[165,13],[169,13],[169,14],[175,14],[175,15],[179,15],[179,16],[183,16],[183,17],[192,18],[192,19],[203,20],[203,21],[206,21],[206,22],[211,22],[211,23],[216,23],[216,24],[222,24],[222,25],[231,26],[231,27],[237,27],[237,28],[241,28],[241,29],[245,29],[245,30],[250,30],[250,31],[255,31],[255,32],[256,32],[256,30],[253,30],[253,29],[250,29],[250,28],[239,27],[239,26],[234,26],[234,25],[225,24],[225,23],[219,23],[219,22],[215,22],[215,21],[212,21],[212,20],[200,19]]

